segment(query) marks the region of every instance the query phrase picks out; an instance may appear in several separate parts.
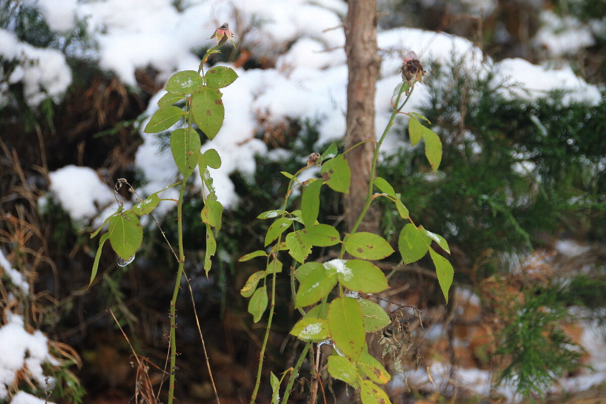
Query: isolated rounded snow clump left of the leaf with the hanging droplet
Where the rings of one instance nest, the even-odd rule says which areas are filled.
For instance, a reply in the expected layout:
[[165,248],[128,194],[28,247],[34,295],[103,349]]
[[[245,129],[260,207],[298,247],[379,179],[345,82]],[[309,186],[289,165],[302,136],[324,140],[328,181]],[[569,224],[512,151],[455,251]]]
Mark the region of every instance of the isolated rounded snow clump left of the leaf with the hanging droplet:
[[[115,204],[112,188],[101,182],[92,168],[66,165],[48,174],[48,189],[76,222],[97,216],[99,208]],[[114,206],[114,212],[116,207]]]

